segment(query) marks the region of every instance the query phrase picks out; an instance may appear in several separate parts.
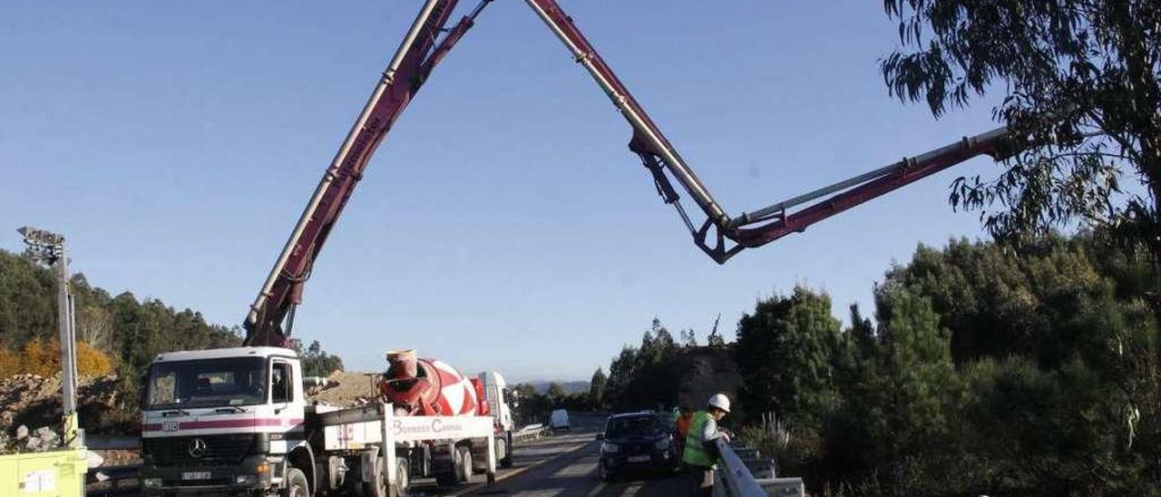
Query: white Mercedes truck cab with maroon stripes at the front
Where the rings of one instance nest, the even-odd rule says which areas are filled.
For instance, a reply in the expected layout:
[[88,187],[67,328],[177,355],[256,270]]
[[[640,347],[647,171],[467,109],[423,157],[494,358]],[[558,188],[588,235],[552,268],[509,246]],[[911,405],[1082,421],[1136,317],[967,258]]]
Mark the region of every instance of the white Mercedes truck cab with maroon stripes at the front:
[[146,495],[265,491],[288,480],[313,487],[305,409],[293,350],[160,354],[142,392],[142,487]]

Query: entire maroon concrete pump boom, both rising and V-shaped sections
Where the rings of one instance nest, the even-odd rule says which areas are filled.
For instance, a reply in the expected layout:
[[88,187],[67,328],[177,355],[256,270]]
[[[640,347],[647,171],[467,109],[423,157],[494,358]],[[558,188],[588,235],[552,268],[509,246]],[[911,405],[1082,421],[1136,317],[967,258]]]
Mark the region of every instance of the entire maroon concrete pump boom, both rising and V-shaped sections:
[[[302,302],[303,283],[310,278],[315,259],[362,178],[368,160],[435,65],[474,26],[475,19],[491,1],[479,0],[476,8],[452,29],[446,29],[445,26],[459,0],[425,1],[383,71],[382,79],[323,174],[251,305],[244,322],[245,345],[284,347],[290,344],[294,310]],[[576,62],[587,70],[629,122],[633,128],[629,150],[641,158],[652,174],[657,192],[665,203],[677,209],[697,246],[719,264],[726,262],[743,248],[765,245],[791,232],[802,231],[810,224],[973,157],[989,154],[998,160],[1009,149],[1007,144],[1010,134],[1005,128],[998,128],[787,201],[730,217],[556,1],[525,1],[564,43]],[[446,35],[440,38],[444,33]],[[695,228],[686,214],[670,177],[677,180],[706,216],[700,228]],[[814,203],[789,211],[807,202]],[[728,247],[727,240],[730,244]]]

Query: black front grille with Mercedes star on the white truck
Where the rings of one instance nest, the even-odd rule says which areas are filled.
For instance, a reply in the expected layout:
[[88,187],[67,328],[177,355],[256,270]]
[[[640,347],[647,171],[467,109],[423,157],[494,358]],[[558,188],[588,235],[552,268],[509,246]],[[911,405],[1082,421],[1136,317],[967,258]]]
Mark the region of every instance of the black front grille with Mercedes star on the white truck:
[[[203,444],[195,442],[195,439],[201,439]],[[240,463],[252,452],[257,439],[258,435],[252,433],[146,438],[142,440],[142,451],[153,459],[157,467],[231,466]],[[197,451],[190,451],[194,445],[197,445]]]

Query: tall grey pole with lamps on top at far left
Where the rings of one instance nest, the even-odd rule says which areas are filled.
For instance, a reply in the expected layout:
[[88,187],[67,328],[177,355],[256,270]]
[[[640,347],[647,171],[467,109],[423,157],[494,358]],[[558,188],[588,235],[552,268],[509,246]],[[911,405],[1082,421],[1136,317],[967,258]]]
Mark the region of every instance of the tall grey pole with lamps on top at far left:
[[64,440],[70,447],[85,444],[77,420],[77,327],[73,320],[72,291],[68,288],[68,258],[65,237],[36,228],[19,230],[28,248],[26,254],[57,273],[57,322],[60,329],[60,384],[64,390]]

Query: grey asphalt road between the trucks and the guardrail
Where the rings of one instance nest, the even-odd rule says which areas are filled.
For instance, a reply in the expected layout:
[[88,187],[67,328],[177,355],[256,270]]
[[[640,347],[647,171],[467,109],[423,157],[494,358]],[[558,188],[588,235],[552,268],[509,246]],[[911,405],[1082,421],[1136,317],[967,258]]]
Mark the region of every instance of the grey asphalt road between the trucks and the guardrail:
[[597,476],[600,442],[594,435],[604,427],[600,417],[574,416],[571,433],[550,435],[517,447],[513,466],[497,471],[497,482],[484,484],[484,476],[453,489],[440,489],[431,482],[416,482],[412,495],[425,496],[519,496],[519,497],[613,497],[613,496],[684,496],[687,477],[640,475],[605,483]]

